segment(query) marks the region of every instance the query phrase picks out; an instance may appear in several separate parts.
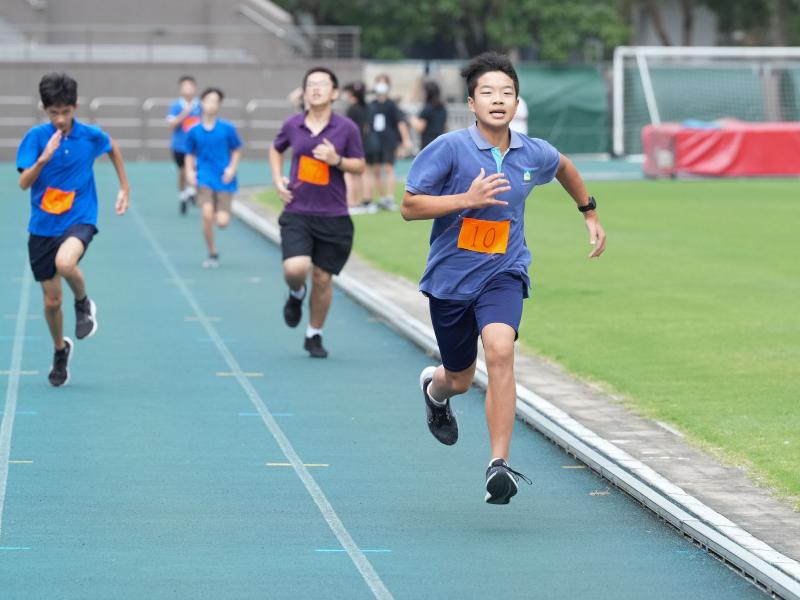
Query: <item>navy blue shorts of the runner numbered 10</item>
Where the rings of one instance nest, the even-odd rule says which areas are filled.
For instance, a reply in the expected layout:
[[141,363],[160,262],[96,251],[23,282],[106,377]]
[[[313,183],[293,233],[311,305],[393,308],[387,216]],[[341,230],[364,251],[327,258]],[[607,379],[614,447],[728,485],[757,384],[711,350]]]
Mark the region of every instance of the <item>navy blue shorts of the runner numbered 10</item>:
[[457,373],[478,358],[478,338],[490,323],[505,323],[519,332],[527,286],[516,273],[500,273],[473,300],[440,300],[428,296],[433,331],[442,364]]

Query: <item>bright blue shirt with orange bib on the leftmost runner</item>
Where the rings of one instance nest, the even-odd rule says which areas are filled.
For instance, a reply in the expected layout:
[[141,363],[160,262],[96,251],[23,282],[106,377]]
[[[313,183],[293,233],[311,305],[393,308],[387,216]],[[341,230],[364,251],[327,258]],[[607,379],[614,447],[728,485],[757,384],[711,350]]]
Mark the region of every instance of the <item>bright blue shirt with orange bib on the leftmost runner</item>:
[[[37,125],[25,134],[17,150],[17,170],[30,169],[56,132],[52,123]],[[58,237],[73,225],[97,226],[97,189],[94,161],[111,151],[108,134],[78,120],[31,186],[28,231]]]

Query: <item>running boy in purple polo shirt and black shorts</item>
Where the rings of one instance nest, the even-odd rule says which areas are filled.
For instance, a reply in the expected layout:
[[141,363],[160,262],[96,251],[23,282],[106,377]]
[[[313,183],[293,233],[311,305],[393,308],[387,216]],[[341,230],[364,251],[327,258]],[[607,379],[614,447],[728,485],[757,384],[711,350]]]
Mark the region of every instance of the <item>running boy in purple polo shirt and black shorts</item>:
[[[333,298],[332,276],[342,270],[353,246],[344,174],[360,175],[365,169],[358,127],[333,112],[338,87],[330,69],[308,71],[303,77],[308,110],[283,123],[269,150],[272,180],[284,204],[279,224],[289,298],[283,318],[289,327],[300,322],[311,270],[311,316],[304,348],[314,358],[328,356],[322,327]],[[283,153],[289,147],[292,166],[287,179]]]

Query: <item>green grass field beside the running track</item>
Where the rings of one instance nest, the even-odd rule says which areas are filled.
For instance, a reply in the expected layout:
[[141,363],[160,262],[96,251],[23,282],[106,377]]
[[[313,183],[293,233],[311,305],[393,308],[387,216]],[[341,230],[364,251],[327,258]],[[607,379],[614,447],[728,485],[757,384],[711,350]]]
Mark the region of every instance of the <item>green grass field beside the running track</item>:
[[[800,186],[594,182],[598,260],[558,184],[528,199],[522,343],[741,465],[800,509]],[[264,200],[276,206],[268,193]],[[356,251],[416,281],[429,222],[354,217]]]

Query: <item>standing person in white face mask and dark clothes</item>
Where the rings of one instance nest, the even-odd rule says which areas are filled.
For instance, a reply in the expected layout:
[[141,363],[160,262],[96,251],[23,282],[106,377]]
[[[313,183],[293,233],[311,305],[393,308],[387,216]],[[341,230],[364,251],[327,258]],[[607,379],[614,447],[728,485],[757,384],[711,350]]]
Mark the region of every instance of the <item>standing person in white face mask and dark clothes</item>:
[[411,151],[411,138],[405,115],[389,98],[391,83],[388,75],[375,78],[375,99],[369,103],[367,134],[364,151],[367,159],[366,197],[370,200],[378,194],[378,205],[394,210],[395,175],[394,160],[399,153]]

